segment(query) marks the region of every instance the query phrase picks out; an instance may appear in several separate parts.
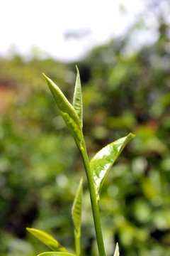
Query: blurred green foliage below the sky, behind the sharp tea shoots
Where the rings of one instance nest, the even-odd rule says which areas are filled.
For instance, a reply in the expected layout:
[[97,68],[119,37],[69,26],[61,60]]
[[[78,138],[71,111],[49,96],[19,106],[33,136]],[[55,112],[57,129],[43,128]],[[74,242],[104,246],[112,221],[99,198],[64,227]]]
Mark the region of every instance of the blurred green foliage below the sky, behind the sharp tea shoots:
[[[101,218],[107,255],[170,254],[169,27],[159,23],[152,46],[128,54],[129,34],[95,48],[77,63],[89,158],[102,146],[136,134],[102,188]],[[72,98],[75,63],[0,60],[0,254],[47,250],[26,227],[43,229],[74,251],[71,208],[81,157],[40,73]],[[5,103],[4,103],[5,102]],[[7,102],[7,103],[6,103]],[[84,178],[81,245],[96,255]]]

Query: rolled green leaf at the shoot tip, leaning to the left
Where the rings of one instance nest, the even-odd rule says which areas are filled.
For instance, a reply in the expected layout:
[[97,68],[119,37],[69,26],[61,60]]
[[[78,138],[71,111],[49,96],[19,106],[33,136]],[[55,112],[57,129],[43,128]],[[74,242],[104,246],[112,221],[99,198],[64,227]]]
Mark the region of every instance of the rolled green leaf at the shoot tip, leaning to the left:
[[82,140],[81,122],[79,121],[79,116],[76,110],[74,110],[74,107],[69,103],[60,88],[55,85],[55,82],[52,82],[52,80],[50,80],[50,78],[47,78],[46,75],[42,75],[44,76],[47,85],[52,92],[52,96],[54,97],[54,100],[57,104],[58,109],[60,110],[60,113],[62,114],[64,121],[69,127],[70,132],[72,132],[74,140],[80,149]]

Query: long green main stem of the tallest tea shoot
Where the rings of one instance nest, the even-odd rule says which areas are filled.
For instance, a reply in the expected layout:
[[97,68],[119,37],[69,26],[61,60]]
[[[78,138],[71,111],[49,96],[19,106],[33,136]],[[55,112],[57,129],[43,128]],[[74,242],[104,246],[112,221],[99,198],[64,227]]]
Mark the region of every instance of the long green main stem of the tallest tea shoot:
[[96,239],[98,244],[98,253],[100,256],[106,256],[104,243],[103,243],[103,235],[101,231],[101,219],[99,215],[99,207],[98,207],[98,199],[96,198],[96,191],[94,188],[94,180],[93,176],[91,174],[91,169],[89,165],[89,159],[86,152],[86,144],[83,140],[82,147],[80,149],[82,159],[84,161],[84,168],[86,170],[86,176],[87,180],[89,182],[89,191],[90,191],[90,197],[91,197],[91,206],[92,206],[92,212],[94,215],[94,227],[96,231]]

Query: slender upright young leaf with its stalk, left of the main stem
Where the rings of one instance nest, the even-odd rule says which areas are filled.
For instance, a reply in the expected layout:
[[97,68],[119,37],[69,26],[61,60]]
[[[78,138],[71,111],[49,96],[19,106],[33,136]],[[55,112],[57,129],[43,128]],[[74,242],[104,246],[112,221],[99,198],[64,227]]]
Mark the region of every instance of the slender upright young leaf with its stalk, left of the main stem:
[[72,206],[72,220],[74,223],[74,237],[76,242],[77,256],[80,255],[80,235],[81,235],[81,205],[82,205],[82,193],[83,193],[83,178],[79,182],[76,197]]

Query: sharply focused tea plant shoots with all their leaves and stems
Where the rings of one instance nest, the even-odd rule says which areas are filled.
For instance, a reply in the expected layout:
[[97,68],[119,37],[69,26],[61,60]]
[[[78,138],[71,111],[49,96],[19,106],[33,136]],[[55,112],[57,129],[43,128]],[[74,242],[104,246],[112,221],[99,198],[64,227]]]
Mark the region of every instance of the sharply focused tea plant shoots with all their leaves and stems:
[[[72,136],[77,144],[77,147],[80,151],[84,162],[84,168],[86,171],[86,177],[89,183],[89,193],[91,198],[91,208],[94,216],[94,228],[96,231],[96,240],[98,245],[98,254],[99,256],[106,256],[105,247],[103,243],[103,235],[101,230],[101,220],[99,214],[99,200],[101,188],[103,182],[106,179],[108,171],[113,166],[115,160],[123,151],[125,145],[134,137],[133,134],[128,134],[127,137],[112,142],[105,146],[101,151],[94,156],[93,159],[89,162],[88,155],[86,152],[86,144],[84,141],[83,135],[83,107],[82,107],[82,95],[81,95],[81,80],[79,75],[79,70],[77,68],[77,80],[74,89],[73,105],[69,103],[67,98],[64,96],[62,91],[57,85],[55,85],[50,78],[47,78],[44,75],[44,78],[47,82],[47,85],[52,92],[52,96],[57,104],[58,110],[62,114],[64,121],[69,127]],[[81,236],[81,200],[82,200],[82,187],[83,187],[83,178],[81,178],[79,183],[79,188],[74,199],[72,206],[72,220],[74,223],[74,238],[75,238],[75,247],[76,255],[81,254],[80,249],[80,236]],[[45,245],[50,247],[54,252],[43,252],[39,256],[75,256],[60,245],[57,240],[52,238],[52,236],[47,233],[36,230],[34,228],[27,228],[27,230],[33,234],[36,238],[41,240]],[[119,255],[118,244],[115,247],[114,256]]]

